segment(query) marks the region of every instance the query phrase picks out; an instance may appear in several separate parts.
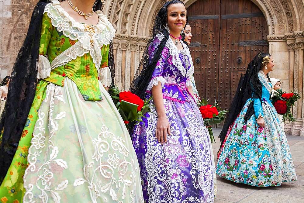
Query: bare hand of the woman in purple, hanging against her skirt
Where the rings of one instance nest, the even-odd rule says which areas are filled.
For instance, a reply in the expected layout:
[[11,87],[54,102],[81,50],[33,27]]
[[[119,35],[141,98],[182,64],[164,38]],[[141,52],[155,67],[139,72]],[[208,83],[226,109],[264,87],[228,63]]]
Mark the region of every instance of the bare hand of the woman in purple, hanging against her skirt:
[[167,143],[167,134],[171,135],[170,124],[165,116],[158,117],[155,130],[155,138],[159,143]]

